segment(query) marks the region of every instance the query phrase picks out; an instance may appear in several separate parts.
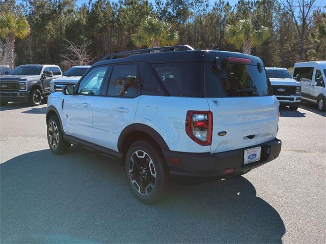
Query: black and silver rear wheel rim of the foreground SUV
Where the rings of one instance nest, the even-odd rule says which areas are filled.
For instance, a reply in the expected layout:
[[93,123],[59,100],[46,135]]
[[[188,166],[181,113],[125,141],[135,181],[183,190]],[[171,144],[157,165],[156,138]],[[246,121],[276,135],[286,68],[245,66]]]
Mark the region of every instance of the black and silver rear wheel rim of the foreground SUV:
[[155,188],[156,170],[152,159],[143,150],[135,151],[129,161],[129,177],[134,189],[149,195]]

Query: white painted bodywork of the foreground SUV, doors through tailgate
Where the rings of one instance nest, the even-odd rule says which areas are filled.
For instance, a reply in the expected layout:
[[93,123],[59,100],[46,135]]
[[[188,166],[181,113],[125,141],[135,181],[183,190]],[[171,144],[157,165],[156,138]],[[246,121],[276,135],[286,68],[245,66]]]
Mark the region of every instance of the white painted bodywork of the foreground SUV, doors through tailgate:
[[[207,99],[78,96],[77,101],[74,99],[72,103],[69,98],[73,97],[52,93],[48,99],[48,106],[55,106],[60,114],[65,134],[115,151],[118,151],[120,133],[133,123],[154,129],[170,150],[192,153],[220,153],[264,143],[277,135],[279,102],[274,96]],[[65,113],[62,110],[63,99]],[[85,103],[90,106],[85,106]],[[128,112],[123,111],[125,109]],[[211,146],[199,145],[186,134],[185,118],[188,110],[212,111]],[[226,131],[227,134],[218,136],[220,131]],[[249,135],[255,137],[249,139]]]

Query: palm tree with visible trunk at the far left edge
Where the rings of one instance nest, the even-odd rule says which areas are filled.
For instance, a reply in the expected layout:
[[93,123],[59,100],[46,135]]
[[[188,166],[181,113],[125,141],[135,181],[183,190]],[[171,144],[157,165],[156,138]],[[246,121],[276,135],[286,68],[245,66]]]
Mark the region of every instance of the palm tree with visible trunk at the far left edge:
[[5,40],[3,55],[6,65],[14,68],[15,62],[15,40],[24,39],[30,34],[30,24],[22,16],[13,13],[0,14],[0,37]]

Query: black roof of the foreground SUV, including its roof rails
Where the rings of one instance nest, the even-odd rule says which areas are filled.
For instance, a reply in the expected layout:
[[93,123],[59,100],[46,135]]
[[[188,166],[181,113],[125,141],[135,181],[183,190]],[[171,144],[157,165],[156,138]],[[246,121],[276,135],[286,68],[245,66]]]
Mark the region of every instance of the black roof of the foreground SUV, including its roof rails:
[[[215,57],[221,60],[227,57],[240,57],[252,59],[252,64],[256,65],[258,62],[262,63],[259,57],[243,54],[239,52],[216,51],[216,50],[194,50],[189,46],[172,46],[172,47],[188,47],[179,50],[168,50],[171,47],[159,47],[155,49],[165,49],[164,51],[151,52],[153,49],[139,49],[126,51],[121,53],[113,53],[104,56],[99,62],[93,66],[106,64],[119,64],[131,62],[149,62],[151,64],[159,63],[179,63],[179,62],[214,62]],[[172,48],[173,49],[173,48]],[[145,51],[144,51],[145,50]],[[128,55],[128,56],[126,56]],[[119,56],[122,56],[119,58]],[[124,57],[123,57],[124,56]]]

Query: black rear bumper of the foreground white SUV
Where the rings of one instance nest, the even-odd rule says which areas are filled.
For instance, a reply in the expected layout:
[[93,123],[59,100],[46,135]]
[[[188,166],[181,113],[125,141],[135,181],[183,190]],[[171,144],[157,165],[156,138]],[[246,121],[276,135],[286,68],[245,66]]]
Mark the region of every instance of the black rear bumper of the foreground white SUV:
[[[171,175],[196,176],[196,177],[225,177],[241,174],[257,168],[271,160],[276,159],[281,151],[281,140],[274,140],[245,147],[241,149],[225,151],[223,153],[181,153],[178,151],[162,150]],[[261,159],[247,165],[243,164],[244,149],[261,146]],[[179,159],[178,163],[172,163],[170,158]],[[226,169],[234,169],[232,173],[226,173]]]

